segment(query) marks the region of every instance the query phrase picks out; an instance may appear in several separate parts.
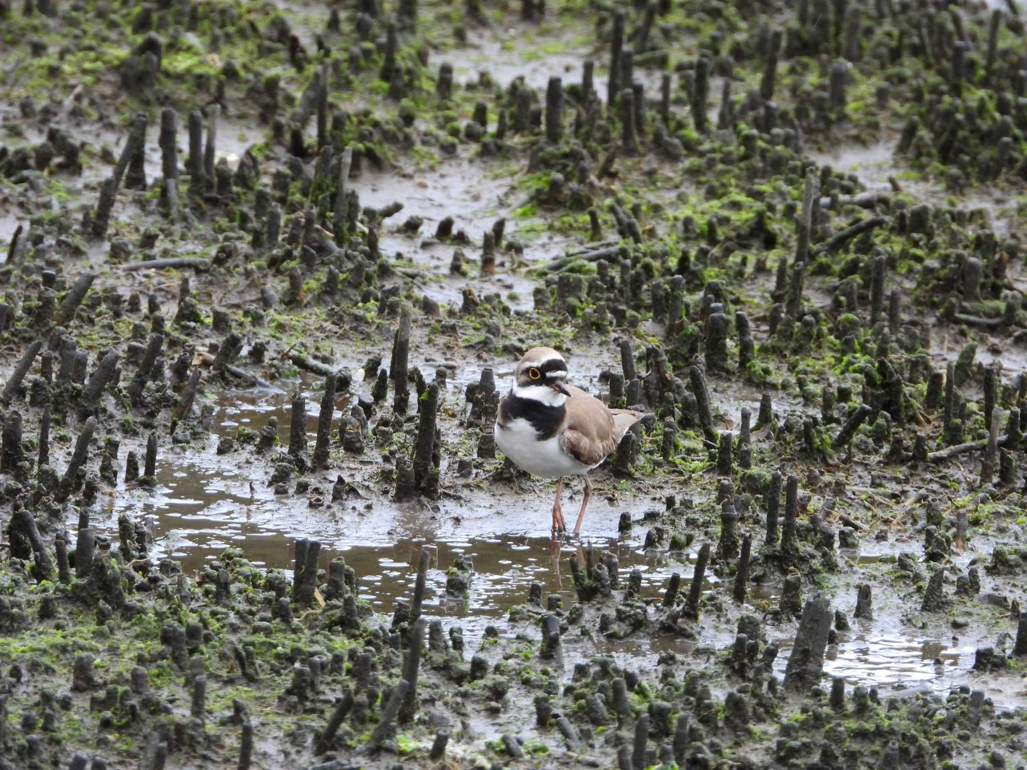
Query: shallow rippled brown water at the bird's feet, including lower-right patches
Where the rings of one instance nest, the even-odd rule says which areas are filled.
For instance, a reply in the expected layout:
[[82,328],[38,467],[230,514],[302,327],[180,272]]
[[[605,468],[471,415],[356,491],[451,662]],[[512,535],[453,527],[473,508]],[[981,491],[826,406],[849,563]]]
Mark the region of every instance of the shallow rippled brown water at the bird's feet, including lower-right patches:
[[[477,372],[456,372],[451,380],[451,395],[476,376]],[[309,383],[299,385],[309,387]],[[308,402],[316,403],[316,392],[308,391],[306,395]],[[234,435],[240,427],[260,430],[275,417],[279,439],[288,441],[291,414],[286,393],[230,392],[222,394],[216,403],[211,417],[215,436]],[[340,411],[342,407],[344,401],[340,402]],[[312,440],[316,418],[313,414],[308,417]],[[342,505],[309,507],[302,496],[298,502],[294,497],[289,501],[276,498],[263,471],[256,471],[258,465],[263,468],[266,463],[245,459],[251,450],[219,457],[216,446],[217,438],[212,437],[203,451],[193,448],[188,454],[161,458],[157,489],[119,490],[107,521],[98,524],[106,526],[113,538],[118,513],[148,517],[156,534],[155,554],[180,560],[191,573],[211,565],[228,547],[240,548],[258,567],[289,572],[293,541],[315,537],[324,544],[322,566],[335,556],[344,557],[358,577],[360,599],[383,613],[390,613],[397,601],[411,601],[414,565],[420,550],[426,548],[431,560],[425,613],[461,625],[469,649],[478,649],[487,626],[508,637],[524,630],[523,625],[510,626],[506,615],[511,607],[526,601],[532,582],[542,584],[543,596],[560,595],[565,608],[575,601],[569,563],[572,559],[580,561],[583,551],[578,543],[553,540],[545,531],[547,516],[540,513],[551,504],[547,487],[540,493],[541,499],[532,501],[530,509],[499,516],[487,509],[476,512],[476,507],[484,508],[486,503],[474,498],[456,504],[444,502],[439,513],[411,506],[377,504],[372,508],[359,498]],[[318,480],[315,476],[312,484],[314,494],[319,488],[319,494],[330,499],[330,478]],[[509,504],[510,496],[502,497]],[[620,537],[615,522],[615,509],[597,506],[586,527],[593,537],[586,542],[617,554],[622,580],[638,569],[643,576],[643,599],[648,602],[659,601],[673,573],[682,576],[682,589],[688,589],[694,553],[647,552],[639,540],[644,528]],[[851,555],[867,565],[879,557],[870,552]],[[469,594],[454,600],[446,595],[446,569],[460,557],[471,560],[474,574]],[[703,588],[725,590],[715,582]],[[772,608],[778,595],[776,585],[753,586],[753,611],[760,615]],[[781,647],[775,663],[778,676],[784,675],[793,630],[787,624],[768,628],[769,639],[776,640]],[[565,661],[573,665],[587,660],[598,649],[625,665],[655,665],[665,652],[701,657],[711,649],[726,649],[731,641],[728,630],[715,626],[703,628],[699,643],[677,638],[659,638],[653,643],[584,640],[571,633],[565,640]],[[972,682],[974,650],[972,644],[951,640],[896,634],[886,620],[854,621],[853,628],[840,633],[838,644],[829,648],[825,676],[842,676],[850,685],[876,686],[885,693],[916,687],[944,693]],[[999,704],[1007,700],[1004,693],[988,694]]]

